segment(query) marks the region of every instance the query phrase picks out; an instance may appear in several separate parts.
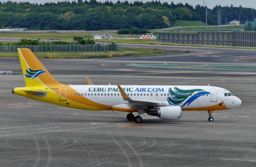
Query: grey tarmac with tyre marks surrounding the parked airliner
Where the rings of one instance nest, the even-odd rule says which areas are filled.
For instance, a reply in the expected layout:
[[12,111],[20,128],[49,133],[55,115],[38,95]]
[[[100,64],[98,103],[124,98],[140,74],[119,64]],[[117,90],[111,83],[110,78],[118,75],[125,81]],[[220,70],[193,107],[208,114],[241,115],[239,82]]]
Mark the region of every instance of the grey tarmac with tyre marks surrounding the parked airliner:
[[[214,112],[214,122],[208,122],[206,112],[182,112],[177,121],[144,114],[143,123],[135,124],[123,112],[75,110],[26,99],[12,94],[13,87],[24,86],[19,60],[1,57],[0,71],[16,75],[0,75],[0,166],[255,166],[255,71],[127,65],[202,64],[179,61],[196,57],[199,49],[187,55],[40,60],[64,84],[86,84],[86,76],[94,84],[209,83],[226,88],[242,106]],[[254,56],[250,50],[234,50],[240,52]],[[217,62],[223,59],[225,65],[254,65],[232,61],[231,55],[204,63],[223,65]]]

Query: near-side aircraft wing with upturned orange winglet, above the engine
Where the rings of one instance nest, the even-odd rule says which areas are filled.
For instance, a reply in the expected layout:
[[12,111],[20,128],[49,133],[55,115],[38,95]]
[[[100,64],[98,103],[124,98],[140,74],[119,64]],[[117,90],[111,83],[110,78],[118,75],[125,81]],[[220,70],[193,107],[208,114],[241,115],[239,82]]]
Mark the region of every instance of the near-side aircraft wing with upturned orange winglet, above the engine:
[[131,105],[131,106],[143,106],[143,105],[154,105],[154,106],[168,106],[168,104],[165,103],[159,103],[159,102],[148,102],[148,101],[139,101],[139,100],[132,100],[126,92],[121,88],[121,86],[117,85],[118,89],[120,90],[120,94],[122,98],[127,101],[125,104]]

